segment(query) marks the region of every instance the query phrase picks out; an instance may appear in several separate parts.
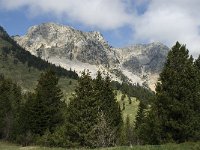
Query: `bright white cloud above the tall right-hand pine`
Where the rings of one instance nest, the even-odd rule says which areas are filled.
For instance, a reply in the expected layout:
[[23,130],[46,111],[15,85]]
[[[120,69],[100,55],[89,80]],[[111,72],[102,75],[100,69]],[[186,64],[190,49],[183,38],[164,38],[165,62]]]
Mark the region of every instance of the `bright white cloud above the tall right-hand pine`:
[[199,0],[151,0],[134,22],[135,41],[161,41],[169,46],[179,41],[196,57],[200,54],[199,10]]

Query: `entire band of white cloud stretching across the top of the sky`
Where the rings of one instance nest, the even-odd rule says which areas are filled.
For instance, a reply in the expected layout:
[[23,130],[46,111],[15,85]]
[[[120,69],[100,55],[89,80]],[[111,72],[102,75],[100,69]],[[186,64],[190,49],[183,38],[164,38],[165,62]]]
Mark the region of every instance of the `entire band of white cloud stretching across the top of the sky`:
[[200,53],[200,0],[0,0],[0,8],[23,8],[30,16],[50,14],[103,30],[129,26],[135,43],[160,41],[171,47],[180,41],[194,56]]

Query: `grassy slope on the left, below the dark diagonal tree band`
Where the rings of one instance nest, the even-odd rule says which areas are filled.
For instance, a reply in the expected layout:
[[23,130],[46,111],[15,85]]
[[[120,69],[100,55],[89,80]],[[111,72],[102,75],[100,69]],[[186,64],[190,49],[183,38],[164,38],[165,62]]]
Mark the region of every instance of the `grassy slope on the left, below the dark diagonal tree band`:
[[[1,48],[3,46],[10,47],[11,44],[0,38],[0,73],[4,74],[6,78],[10,78],[18,83],[24,91],[33,91],[42,71],[33,67],[29,69],[27,64],[23,64],[20,61],[18,61],[17,64],[14,64],[14,60],[16,59],[10,54],[5,59],[1,54]],[[71,84],[69,84],[70,81]],[[68,98],[68,93],[71,93],[74,90],[76,83],[77,81],[74,79],[60,78],[59,86],[63,90],[66,98]]]

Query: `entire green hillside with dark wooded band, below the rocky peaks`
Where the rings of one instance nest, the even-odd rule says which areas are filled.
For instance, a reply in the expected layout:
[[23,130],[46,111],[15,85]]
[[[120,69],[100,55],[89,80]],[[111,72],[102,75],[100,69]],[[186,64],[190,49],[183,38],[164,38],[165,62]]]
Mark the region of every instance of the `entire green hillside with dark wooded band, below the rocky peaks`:
[[[60,76],[59,86],[63,90],[64,97],[69,100],[77,83],[77,74],[74,71],[67,71],[31,55],[16,44],[2,27],[0,28],[0,73],[4,74],[6,78],[10,78],[18,83],[23,91],[32,91],[37,84],[41,72],[48,67],[53,67],[57,75]],[[123,110],[123,117],[126,118],[127,115],[130,115],[132,122],[138,105],[135,97],[143,100],[148,99],[152,95],[147,89],[139,86],[121,85],[117,82],[113,82],[113,88],[118,91],[117,100],[120,102],[121,108],[123,107],[123,102],[121,101],[122,92],[131,96],[132,104],[129,104],[128,97],[124,100],[126,108]]]

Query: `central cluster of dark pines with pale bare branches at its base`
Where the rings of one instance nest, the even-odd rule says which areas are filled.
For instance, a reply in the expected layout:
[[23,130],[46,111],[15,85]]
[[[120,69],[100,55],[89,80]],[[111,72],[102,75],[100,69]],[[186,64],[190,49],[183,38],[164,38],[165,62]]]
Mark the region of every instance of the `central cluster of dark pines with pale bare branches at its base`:
[[[103,79],[98,72],[97,78],[92,80],[89,72],[83,72],[68,106],[66,128],[69,140],[79,146],[112,146],[116,142],[121,123],[121,111],[109,76]],[[105,135],[105,132],[112,136]],[[102,142],[105,137],[110,142]]]

